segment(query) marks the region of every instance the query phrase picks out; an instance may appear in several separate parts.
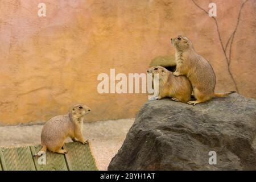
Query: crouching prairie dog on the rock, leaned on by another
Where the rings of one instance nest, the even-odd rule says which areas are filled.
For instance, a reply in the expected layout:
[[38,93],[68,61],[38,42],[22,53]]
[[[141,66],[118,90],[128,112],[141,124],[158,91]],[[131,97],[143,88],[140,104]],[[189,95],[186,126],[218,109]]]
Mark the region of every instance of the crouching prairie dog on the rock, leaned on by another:
[[147,72],[152,73],[152,77],[155,73],[159,75],[158,100],[164,97],[171,97],[173,101],[185,103],[191,100],[192,86],[185,76],[176,77],[172,72],[160,66],[151,67]]

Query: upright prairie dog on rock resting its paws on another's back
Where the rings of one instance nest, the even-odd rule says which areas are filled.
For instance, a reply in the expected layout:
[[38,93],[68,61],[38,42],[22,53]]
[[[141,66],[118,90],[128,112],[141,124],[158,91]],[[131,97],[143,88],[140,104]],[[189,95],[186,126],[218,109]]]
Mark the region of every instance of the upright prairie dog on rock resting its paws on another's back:
[[185,36],[177,36],[171,39],[175,47],[176,71],[175,76],[187,76],[193,86],[196,101],[188,104],[199,104],[209,101],[212,97],[223,97],[233,92],[214,93],[216,77],[210,63],[196,53],[191,40]]

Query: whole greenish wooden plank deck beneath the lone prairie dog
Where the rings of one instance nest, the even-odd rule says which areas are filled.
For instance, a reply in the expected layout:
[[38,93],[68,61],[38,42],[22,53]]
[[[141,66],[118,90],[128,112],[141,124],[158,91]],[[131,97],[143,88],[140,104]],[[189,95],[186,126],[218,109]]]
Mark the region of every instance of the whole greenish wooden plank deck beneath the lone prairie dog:
[[0,171],[78,171],[98,170],[90,150],[90,144],[78,142],[65,143],[68,154],[46,152],[46,164],[38,163],[38,156],[33,157],[42,146],[0,147]]

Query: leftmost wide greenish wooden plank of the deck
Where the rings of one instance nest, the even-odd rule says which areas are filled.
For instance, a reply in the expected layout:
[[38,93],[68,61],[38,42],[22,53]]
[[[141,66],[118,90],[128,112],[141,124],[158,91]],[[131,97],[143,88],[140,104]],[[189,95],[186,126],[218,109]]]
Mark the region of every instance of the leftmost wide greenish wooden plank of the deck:
[[35,171],[29,146],[0,147],[3,171]]

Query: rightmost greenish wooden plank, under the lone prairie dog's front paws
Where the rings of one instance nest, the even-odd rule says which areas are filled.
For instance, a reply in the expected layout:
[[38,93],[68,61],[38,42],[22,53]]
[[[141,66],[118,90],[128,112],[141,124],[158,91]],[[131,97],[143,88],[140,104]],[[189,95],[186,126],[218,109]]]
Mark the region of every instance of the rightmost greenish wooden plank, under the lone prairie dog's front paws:
[[98,170],[90,150],[90,144],[83,145],[79,142],[69,142],[65,143],[64,148],[68,151],[65,158],[70,171]]

